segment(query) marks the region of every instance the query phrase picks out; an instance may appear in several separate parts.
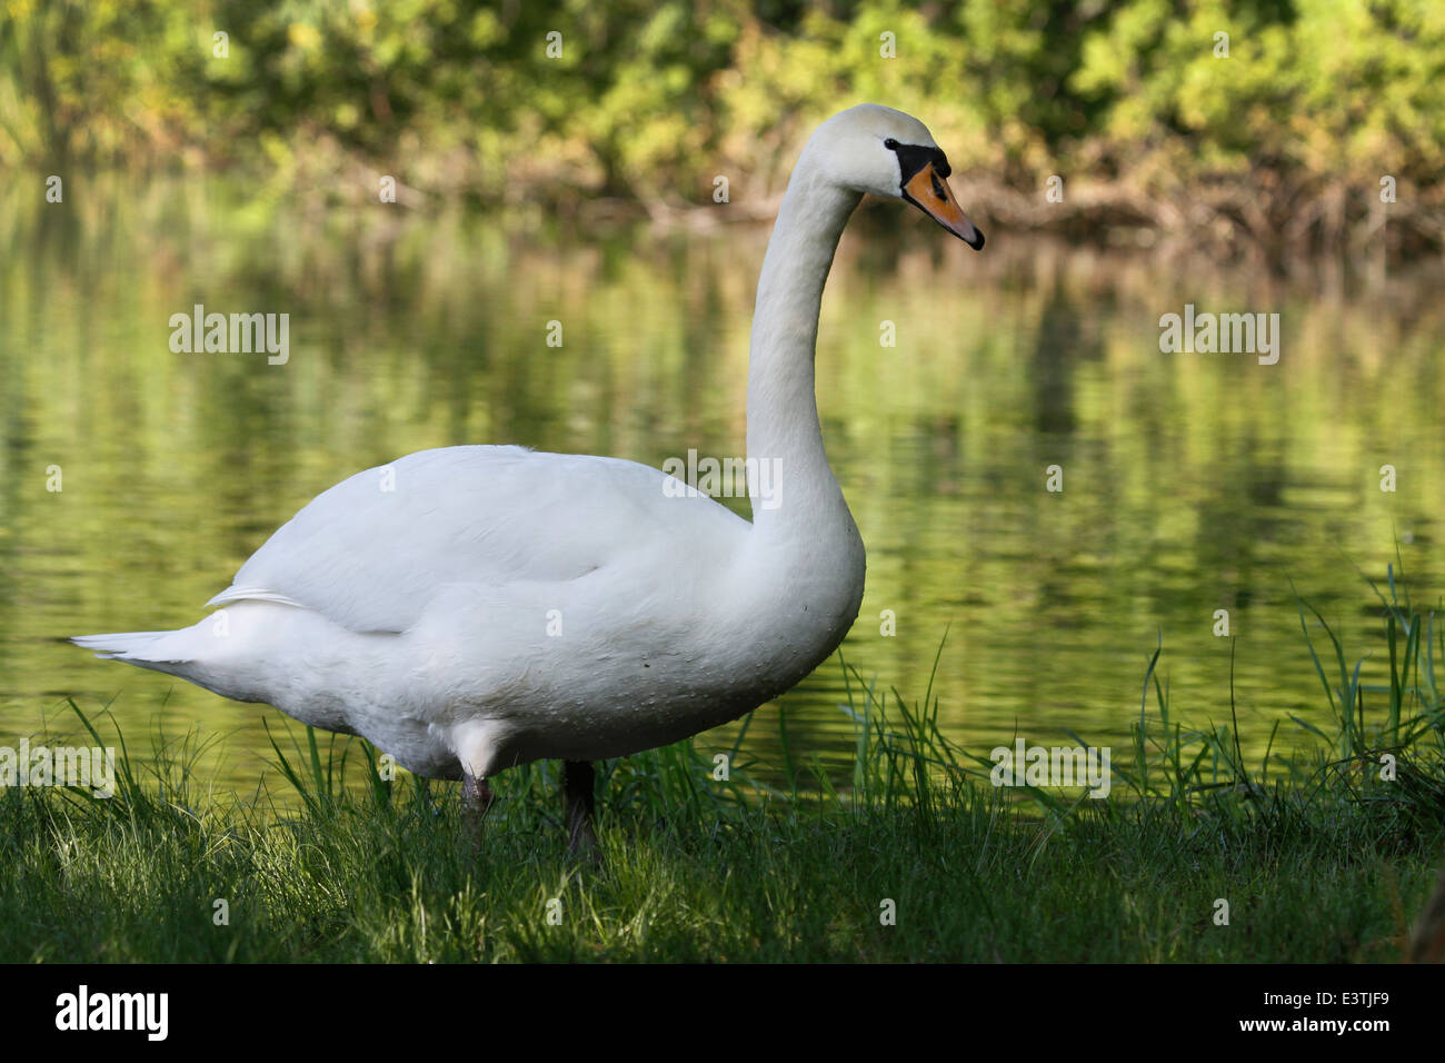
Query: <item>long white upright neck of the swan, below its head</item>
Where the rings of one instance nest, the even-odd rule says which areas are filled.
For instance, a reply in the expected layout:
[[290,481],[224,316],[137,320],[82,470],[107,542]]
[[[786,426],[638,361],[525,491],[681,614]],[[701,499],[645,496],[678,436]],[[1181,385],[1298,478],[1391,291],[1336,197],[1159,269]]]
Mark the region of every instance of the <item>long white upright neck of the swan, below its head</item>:
[[[842,539],[857,541],[857,528],[824,453],[814,347],[832,255],[861,198],[821,179],[803,152],[757,281],[747,377],[747,464],[750,476],[759,477],[751,486],[753,531],[769,547],[799,550],[808,544],[812,551],[827,555],[831,548],[837,555],[845,545]],[[834,537],[837,541],[829,541]]]

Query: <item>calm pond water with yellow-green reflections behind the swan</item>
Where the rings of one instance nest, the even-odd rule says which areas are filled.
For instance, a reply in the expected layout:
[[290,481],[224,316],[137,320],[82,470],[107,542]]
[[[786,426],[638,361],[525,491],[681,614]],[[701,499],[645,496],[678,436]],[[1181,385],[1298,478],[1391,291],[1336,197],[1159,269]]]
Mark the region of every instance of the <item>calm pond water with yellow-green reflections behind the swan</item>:
[[[65,205],[22,185],[0,197],[0,745],[74,729],[65,697],[110,703],[142,749],[158,729],[224,736],[218,782],[247,790],[275,710],[59,636],[195,622],[314,495],[413,450],[741,451],[766,229],[538,234],[223,182],[71,182]],[[1066,730],[1121,746],[1160,635],[1175,714],[1228,719],[1224,609],[1247,756],[1277,720],[1276,748],[1303,742],[1286,713],[1328,709],[1290,581],[1376,651],[1376,680],[1355,567],[1383,579],[1399,541],[1412,592],[1445,590],[1438,289],[1438,270],[1280,281],[993,233],[975,255],[903,208],[864,211],[818,349],[828,451],[868,547],[848,662],[920,697],[946,629],[933,687],[972,752]],[[172,353],[169,318],[197,302],[288,312],[289,362]],[[1279,364],[1162,354],[1159,315],[1186,302],[1277,311]],[[1055,464],[1062,492],[1045,489]],[[783,700],[795,751],[847,755],[837,658]],[[747,746],[775,764],[776,722],[775,704]]]

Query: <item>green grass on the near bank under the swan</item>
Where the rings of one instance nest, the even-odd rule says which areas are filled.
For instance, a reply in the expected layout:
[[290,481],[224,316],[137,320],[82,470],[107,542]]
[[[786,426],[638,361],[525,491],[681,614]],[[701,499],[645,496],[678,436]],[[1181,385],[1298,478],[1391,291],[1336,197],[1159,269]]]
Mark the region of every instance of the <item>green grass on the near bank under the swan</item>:
[[194,738],[143,771],[121,748],[110,800],[0,791],[0,960],[1396,960],[1445,845],[1445,631],[1393,573],[1380,597],[1374,686],[1299,603],[1335,720],[1296,720],[1306,752],[1185,727],[1156,649],[1108,800],[997,790],[932,678],[907,701],[845,668],[850,774],[786,755],[767,785],[746,727],[727,781],[688,742],[607,762],[601,869],[551,762],[497,781],[478,845],[458,787],[383,781],[357,740],[273,735],[288,803],[207,790]]

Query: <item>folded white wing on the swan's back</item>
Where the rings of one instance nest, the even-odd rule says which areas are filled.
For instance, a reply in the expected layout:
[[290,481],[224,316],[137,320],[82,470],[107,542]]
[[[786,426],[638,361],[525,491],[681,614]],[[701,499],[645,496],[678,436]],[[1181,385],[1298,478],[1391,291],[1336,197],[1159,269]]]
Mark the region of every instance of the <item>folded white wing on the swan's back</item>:
[[318,495],[208,605],[283,602],[351,631],[400,632],[458,583],[575,580],[678,542],[725,548],[747,529],[712,499],[678,498],[676,487],[617,458],[426,450]]

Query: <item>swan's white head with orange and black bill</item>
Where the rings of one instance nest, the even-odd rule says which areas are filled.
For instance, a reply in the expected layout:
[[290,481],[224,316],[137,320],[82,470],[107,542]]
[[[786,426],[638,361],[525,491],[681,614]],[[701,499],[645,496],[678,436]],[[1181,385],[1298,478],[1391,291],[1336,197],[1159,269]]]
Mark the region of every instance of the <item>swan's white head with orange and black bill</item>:
[[808,153],[834,184],[906,200],[974,250],[984,246],[984,234],[948,187],[948,159],[912,114],[861,103],[822,123]]

